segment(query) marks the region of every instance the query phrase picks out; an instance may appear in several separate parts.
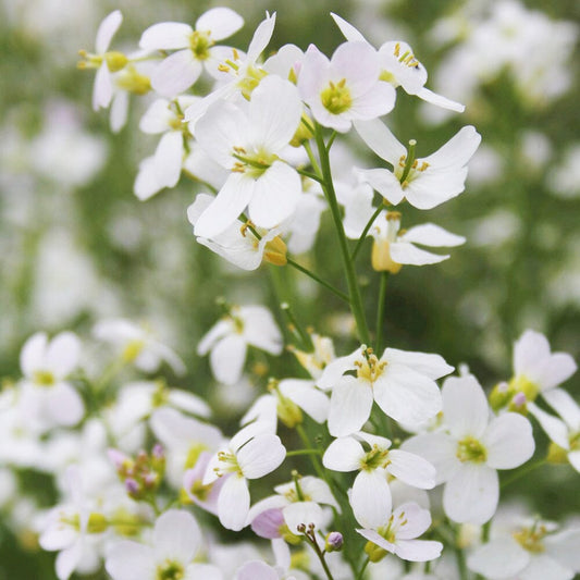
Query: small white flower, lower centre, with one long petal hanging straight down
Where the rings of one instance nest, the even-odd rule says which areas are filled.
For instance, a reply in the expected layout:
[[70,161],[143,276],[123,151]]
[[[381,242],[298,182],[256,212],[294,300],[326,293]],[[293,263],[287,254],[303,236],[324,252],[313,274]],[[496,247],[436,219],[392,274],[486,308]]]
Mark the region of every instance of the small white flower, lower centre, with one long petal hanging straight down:
[[388,476],[423,490],[435,486],[435,468],[429,461],[390,447],[391,441],[385,437],[358,432],[333,441],[322,457],[326,469],[358,471],[350,505],[357,521],[366,528],[380,527],[391,514]]

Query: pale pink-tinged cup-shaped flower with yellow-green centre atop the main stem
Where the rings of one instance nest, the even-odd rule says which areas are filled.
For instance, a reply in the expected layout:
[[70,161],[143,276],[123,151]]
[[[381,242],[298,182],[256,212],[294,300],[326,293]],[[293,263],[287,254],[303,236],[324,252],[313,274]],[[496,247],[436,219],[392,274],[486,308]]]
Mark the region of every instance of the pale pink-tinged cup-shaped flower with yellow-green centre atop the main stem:
[[311,45],[298,77],[303,100],[314,119],[342,133],[354,120],[377,119],[395,104],[395,90],[379,81],[377,51],[366,42],[345,42],[329,60]]

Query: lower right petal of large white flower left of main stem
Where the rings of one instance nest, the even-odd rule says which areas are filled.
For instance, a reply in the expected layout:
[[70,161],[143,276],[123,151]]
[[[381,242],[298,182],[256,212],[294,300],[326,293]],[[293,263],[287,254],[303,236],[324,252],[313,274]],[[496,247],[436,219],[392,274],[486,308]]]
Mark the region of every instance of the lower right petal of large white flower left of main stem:
[[298,205],[303,187],[294,168],[274,163],[255,182],[249,217],[260,227],[274,227],[289,218]]

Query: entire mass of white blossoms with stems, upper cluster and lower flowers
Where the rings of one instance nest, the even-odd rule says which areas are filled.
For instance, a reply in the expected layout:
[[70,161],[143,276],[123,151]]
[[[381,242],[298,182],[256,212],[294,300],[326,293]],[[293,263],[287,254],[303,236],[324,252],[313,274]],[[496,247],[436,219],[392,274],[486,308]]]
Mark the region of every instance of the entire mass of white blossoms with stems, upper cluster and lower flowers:
[[[222,304],[224,316],[197,345],[217,382],[244,381],[249,350],[291,358],[286,346],[300,367],[298,377],[271,378],[231,436],[202,398],[157,377],[163,365],[175,377],[186,369],[149,329],[114,319],[95,326],[91,345],[72,332],[28,338],[21,377],[0,398],[0,499],[15,504],[13,471],[54,478],[58,505],[30,510],[40,546],[58,552],[60,580],[102,567],[113,580],[580,572],[577,526],[518,518],[490,533],[510,481],[498,471],[526,465],[517,478],[546,460],[580,471],[580,408],[560,387],[576,371],[572,357],[527,331],[513,378],[486,393],[466,369],[452,374],[442,356],[383,340],[387,276],[449,258],[418,246],[465,243],[430,222],[402,229],[406,203],[423,211],[459,196],[481,137],[465,126],[424,157],[416,140],[399,143],[386,115],[402,92],[464,107],[427,88],[407,42],[375,48],[332,18],[345,41],[330,58],[314,45],[285,45],[266,58],[276,20],[268,13],[246,50],[222,45],[244,25],[227,8],[193,25],[155,24],[132,52],[114,50],[123,20],[114,11],[95,52],[81,51],[81,67],[96,72],[94,109],[110,108],[112,131],[125,124],[131,95],[153,96],[139,129],[159,144],[139,165],[135,195],[148,199],[182,176],[201,182],[207,190],[184,214],[202,246],[243,270],[263,262],[300,270],[348,305],[356,331],[348,354],[336,356],[333,340],[303,330],[292,305],[283,306],[285,340],[266,307]],[[380,166],[337,166],[349,133]],[[326,210],[347,293],[293,258],[316,243]],[[367,236],[381,281],[372,333],[356,275]],[[90,362],[106,345],[108,363]],[[135,380],[136,371],[145,378]],[[547,457],[535,462],[532,421],[550,439]],[[9,511],[17,529],[15,506]],[[271,551],[258,540],[226,544],[219,527],[248,529]]]

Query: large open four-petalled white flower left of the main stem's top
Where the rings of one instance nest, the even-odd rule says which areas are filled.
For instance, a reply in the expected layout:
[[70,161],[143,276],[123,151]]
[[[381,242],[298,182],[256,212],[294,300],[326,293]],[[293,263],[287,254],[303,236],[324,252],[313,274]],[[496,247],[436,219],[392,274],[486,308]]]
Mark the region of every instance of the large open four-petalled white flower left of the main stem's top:
[[230,176],[198,218],[195,235],[221,234],[246,207],[250,220],[266,229],[294,213],[303,192],[300,176],[279,153],[294,136],[301,112],[296,87],[270,76],[251,94],[247,112],[221,101],[199,120],[199,144]]

